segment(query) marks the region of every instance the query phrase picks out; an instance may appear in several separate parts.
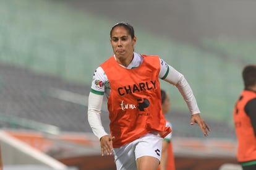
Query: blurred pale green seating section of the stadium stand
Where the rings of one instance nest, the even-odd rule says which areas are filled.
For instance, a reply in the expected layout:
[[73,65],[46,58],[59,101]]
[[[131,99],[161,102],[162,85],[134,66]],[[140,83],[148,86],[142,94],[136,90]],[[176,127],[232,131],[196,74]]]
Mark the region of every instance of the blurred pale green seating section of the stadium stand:
[[[88,77],[92,77],[92,72],[98,64],[112,54],[108,41],[101,42],[104,38],[109,39],[109,25],[112,25],[112,22],[97,20],[87,13],[82,15],[81,12],[74,12],[58,1],[51,2],[51,7],[46,1],[38,2],[40,5],[34,3],[2,2],[1,12],[4,15],[1,17],[6,24],[2,24],[0,29],[2,32],[0,61],[26,67],[33,72],[56,75],[65,80],[90,85],[91,79]],[[32,6],[40,6],[33,17],[28,12]],[[72,20],[72,17],[76,20]],[[92,32],[94,27],[100,27],[100,33],[88,34],[87,32]],[[137,35],[142,37],[141,42],[147,42],[142,44],[139,41],[138,50],[142,53],[160,54],[163,59],[186,75],[205,116],[215,121],[228,121],[231,126],[230,108],[235,101],[237,88],[241,88],[233,64],[214,53],[205,53],[193,46],[160,39],[139,29]],[[150,43],[147,41],[148,37],[161,43]],[[154,51],[151,46],[155,47]],[[87,62],[88,60],[90,62]],[[195,69],[191,70],[192,65]],[[231,72],[233,74],[230,74]],[[230,75],[229,80],[223,75]],[[225,89],[224,85],[232,86]],[[169,89],[166,84],[163,84],[163,88]],[[176,98],[173,101],[173,109],[187,112],[186,105],[177,90],[173,90],[171,95]]]

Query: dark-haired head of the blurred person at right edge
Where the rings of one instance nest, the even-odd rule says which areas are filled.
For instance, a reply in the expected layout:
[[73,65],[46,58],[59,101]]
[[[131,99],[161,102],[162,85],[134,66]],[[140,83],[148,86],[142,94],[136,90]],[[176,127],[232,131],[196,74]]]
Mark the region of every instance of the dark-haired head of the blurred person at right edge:
[[256,85],[256,65],[248,65],[242,71],[242,78],[244,79],[244,88],[250,88]]

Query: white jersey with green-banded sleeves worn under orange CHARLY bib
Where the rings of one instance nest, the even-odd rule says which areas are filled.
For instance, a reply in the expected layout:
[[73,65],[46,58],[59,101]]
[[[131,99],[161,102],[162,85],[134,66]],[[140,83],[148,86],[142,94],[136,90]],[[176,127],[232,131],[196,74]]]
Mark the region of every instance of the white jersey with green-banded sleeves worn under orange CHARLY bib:
[[[142,62],[143,57],[140,56],[140,54],[134,53],[134,59],[132,59],[132,62],[130,62],[129,66],[126,68],[133,69],[135,67],[139,67]],[[190,114],[200,113],[195,96],[184,75],[169,66],[165,61],[163,61],[163,59],[160,59],[159,62],[161,66],[158,75],[159,79],[163,79],[178,88],[184,98],[184,101],[187,103]],[[103,137],[103,135],[107,135],[103,125],[101,124],[100,114],[103,104],[103,95],[105,94],[108,98],[110,90],[111,87],[109,85],[108,77],[104,70],[101,67],[98,67],[93,74],[92,87],[88,98],[88,122],[92,127],[93,133],[99,139]]]

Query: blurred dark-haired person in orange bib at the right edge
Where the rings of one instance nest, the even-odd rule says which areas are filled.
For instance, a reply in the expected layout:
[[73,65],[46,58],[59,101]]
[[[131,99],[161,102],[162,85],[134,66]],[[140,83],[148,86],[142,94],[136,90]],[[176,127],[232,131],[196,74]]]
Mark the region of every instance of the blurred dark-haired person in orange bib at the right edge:
[[238,140],[237,161],[244,170],[256,169],[256,65],[242,71],[244,90],[234,107],[234,125]]

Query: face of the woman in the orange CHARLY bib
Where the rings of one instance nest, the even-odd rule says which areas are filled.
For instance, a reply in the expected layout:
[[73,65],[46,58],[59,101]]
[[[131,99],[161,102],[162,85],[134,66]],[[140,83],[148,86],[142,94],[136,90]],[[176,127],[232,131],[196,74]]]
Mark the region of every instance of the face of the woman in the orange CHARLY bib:
[[119,64],[132,61],[136,38],[134,37],[132,39],[132,36],[129,35],[126,28],[122,26],[114,28],[110,42]]

